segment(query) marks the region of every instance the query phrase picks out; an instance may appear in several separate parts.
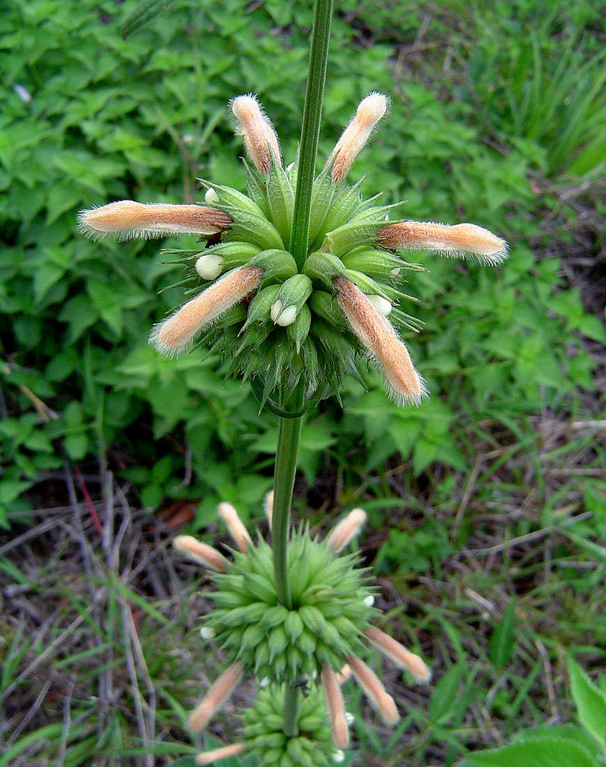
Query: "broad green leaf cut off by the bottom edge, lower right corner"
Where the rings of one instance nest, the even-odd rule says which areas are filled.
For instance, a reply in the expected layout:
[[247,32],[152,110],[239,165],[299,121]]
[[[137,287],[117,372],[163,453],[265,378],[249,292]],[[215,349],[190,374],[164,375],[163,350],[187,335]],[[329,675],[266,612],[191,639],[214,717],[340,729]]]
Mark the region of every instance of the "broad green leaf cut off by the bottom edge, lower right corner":
[[466,759],[474,767],[598,767],[591,754],[574,740],[549,737],[471,753]]

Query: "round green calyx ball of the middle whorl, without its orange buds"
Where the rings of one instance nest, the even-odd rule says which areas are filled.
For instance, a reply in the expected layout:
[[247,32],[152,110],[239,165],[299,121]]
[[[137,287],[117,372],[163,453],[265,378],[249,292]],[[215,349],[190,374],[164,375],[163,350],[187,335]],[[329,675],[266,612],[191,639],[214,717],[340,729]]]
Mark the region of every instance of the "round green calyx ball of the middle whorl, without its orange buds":
[[271,682],[315,678],[323,663],[341,670],[364,647],[378,613],[358,555],[338,556],[302,529],[288,543],[291,609],[278,601],[272,550],[265,541],[235,551],[213,574],[215,609],[206,619],[229,663]]

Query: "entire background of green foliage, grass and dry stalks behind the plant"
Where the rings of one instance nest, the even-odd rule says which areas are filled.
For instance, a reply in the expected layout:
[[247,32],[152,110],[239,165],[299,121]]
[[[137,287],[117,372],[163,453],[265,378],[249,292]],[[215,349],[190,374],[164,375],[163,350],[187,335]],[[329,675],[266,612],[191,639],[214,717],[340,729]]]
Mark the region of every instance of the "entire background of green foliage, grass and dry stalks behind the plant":
[[[75,215],[199,199],[196,176],[243,187],[235,94],[259,94],[294,156],[311,10],[177,0],[124,41],[131,5],[0,15],[0,765],[195,752],[184,710],[221,663],[170,534],[219,542],[219,499],[254,520],[272,483],[275,417],[249,388],[147,347],[181,300],[160,255],[177,241],[89,242]],[[574,722],[566,659],[597,680],[606,657],[604,28],[588,0],[337,6],[321,155],[361,97],[390,94],[354,179],[411,218],[486,225],[512,255],[420,255],[426,328],[407,341],[431,399],[399,410],[365,372],[343,410],[323,403],[295,509],[321,529],[364,505],[390,632],[435,672],[419,688],[386,671],[394,733],[354,697],[354,763],[479,764],[522,727]]]

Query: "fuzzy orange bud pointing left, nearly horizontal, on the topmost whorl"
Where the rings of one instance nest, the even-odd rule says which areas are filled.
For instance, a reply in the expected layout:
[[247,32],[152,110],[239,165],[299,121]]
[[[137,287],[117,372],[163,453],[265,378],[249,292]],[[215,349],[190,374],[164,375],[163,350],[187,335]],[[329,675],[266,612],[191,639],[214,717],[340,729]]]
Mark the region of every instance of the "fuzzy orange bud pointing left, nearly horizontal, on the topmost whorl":
[[214,208],[167,202],[142,205],[131,199],[82,210],[77,220],[85,235],[97,238],[116,235],[118,239],[173,234],[214,235],[232,223],[230,216]]

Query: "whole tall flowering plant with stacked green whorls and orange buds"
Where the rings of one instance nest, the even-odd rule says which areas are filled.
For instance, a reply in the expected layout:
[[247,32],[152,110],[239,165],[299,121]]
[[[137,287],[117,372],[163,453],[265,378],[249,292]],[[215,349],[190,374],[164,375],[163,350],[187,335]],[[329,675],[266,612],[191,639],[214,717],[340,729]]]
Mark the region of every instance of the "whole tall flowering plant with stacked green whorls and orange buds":
[[245,674],[254,673],[260,687],[242,713],[242,739],[203,752],[199,764],[243,751],[279,767],[325,765],[331,755],[343,759],[351,717],[341,684],[350,675],[384,721],[395,724],[393,698],[360,657],[369,645],[416,680],[430,679],[418,655],[373,625],[378,611],[367,571],[356,554],[344,553],[361,531],[364,511],[354,509],[324,541],[305,526],[291,532],[301,419],[314,401],[338,397],[347,374],[359,377],[361,354],[382,371],[397,402],[418,403],[426,395],[398,332],[420,329],[400,301],[414,300],[402,291],[402,276],[422,267],[402,252],[471,255],[489,264],[506,257],[506,243],[486,229],[390,221],[398,206],[361,199],[360,184],[347,184],[357,154],[387,113],[382,94],[361,101],[315,176],[331,8],[331,0],[315,3],[294,162],[283,166],[278,136],[255,97],[239,96],[231,106],[252,162],[247,194],[202,181],[203,206],[125,200],[79,218],[93,236],[187,233],[206,240],[205,247],[178,252],[197,295],[153,328],[150,342],[169,356],[195,342],[218,352],[229,360],[230,373],[250,380],[262,406],[279,416],[274,491],[266,499],[272,546],[253,541],[229,504],[219,506],[219,515],[235,542],[230,558],[190,536],[175,539],[179,551],[212,571],[215,608],[202,636],[219,643],[229,664],[189,726],[206,727]]

